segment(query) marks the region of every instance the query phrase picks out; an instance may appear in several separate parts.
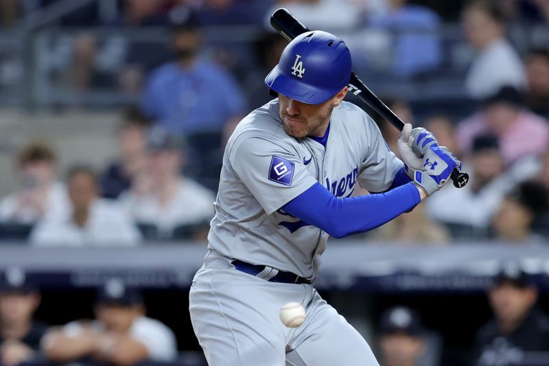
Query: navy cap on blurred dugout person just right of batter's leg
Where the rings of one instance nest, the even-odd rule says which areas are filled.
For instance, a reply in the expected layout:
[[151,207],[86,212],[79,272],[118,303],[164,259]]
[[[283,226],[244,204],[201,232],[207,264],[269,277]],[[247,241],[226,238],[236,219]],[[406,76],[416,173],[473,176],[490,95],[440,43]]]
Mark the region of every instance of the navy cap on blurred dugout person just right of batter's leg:
[[383,335],[404,333],[411,336],[423,334],[419,314],[406,306],[395,306],[382,314],[379,332]]

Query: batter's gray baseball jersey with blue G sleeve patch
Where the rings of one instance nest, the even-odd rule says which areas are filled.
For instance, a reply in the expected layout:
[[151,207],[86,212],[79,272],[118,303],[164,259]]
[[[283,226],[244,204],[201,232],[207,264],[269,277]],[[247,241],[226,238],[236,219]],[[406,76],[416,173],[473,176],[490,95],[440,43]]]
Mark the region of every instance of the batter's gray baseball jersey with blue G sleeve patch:
[[328,234],[281,207],[316,182],[337,197],[356,184],[383,192],[403,163],[377,125],[354,104],[331,114],[326,147],[283,129],[278,99],[256,109],[229,139],[221,172],[209,249],[227,258],[316,277]]

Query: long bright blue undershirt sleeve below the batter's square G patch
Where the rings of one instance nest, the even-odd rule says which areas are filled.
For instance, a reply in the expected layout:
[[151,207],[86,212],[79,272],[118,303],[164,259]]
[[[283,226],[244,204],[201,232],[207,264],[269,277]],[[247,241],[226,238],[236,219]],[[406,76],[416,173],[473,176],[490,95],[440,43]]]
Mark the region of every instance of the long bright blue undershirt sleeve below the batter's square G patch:
[[282,209],[331,236],[344,238],[383,225],[419,202],[419,191],[413,183],[386,193],[349,198],[336,198],[326,187],[316,183]]

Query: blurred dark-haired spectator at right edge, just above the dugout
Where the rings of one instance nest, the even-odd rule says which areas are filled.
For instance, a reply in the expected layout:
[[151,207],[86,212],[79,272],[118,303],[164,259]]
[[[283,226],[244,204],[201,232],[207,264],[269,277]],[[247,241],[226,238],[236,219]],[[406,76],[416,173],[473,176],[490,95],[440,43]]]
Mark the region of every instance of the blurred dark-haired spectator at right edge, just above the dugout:
[[526,181],[507,194],[493,218],[493,229],[499,240],[528,244],[544,243],[534,228],[536,219],[547,214],[549,192],[541,183]]

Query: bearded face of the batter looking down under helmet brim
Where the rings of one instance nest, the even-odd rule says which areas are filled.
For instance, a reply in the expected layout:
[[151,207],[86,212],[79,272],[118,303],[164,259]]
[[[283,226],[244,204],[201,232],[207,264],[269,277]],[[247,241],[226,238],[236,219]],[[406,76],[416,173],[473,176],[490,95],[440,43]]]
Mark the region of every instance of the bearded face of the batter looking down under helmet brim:
[[347,90],[347,87],[344,87],[322,104],[305,104],[279,94],[280,117],[285,133],[296,139],[305,136],[323,137],[331,111],[345,98]]

